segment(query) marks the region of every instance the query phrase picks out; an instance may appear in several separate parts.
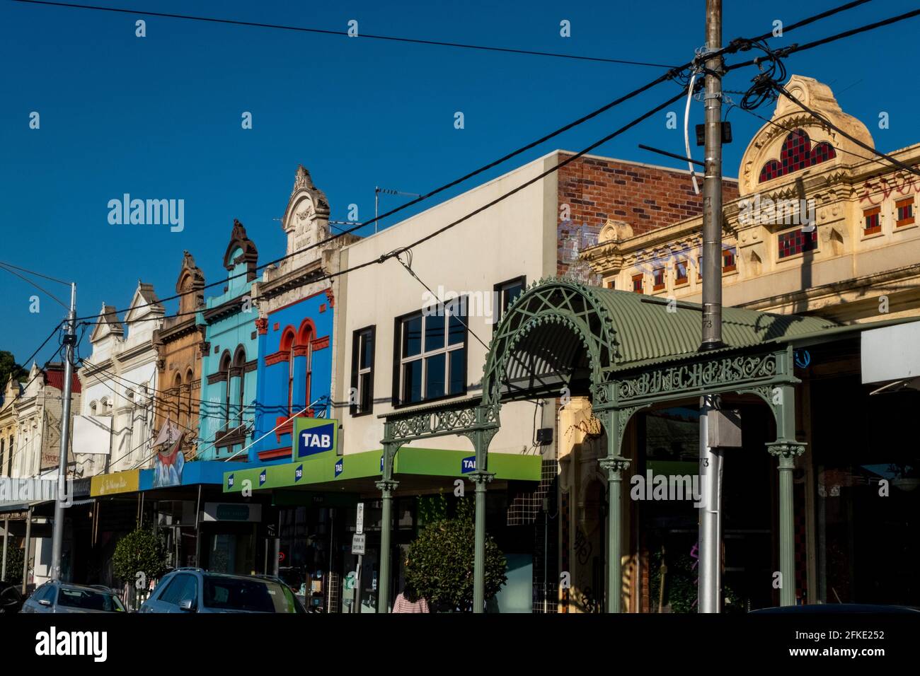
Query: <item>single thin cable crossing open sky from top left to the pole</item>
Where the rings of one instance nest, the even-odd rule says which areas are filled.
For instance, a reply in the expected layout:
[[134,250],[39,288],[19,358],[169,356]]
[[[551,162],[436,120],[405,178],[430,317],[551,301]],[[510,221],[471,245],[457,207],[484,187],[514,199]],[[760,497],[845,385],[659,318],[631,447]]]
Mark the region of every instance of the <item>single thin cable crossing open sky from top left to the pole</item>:
[[257,21],[241,21],[238,19],[230,18],[216,18],[216,17],[194,17],[188,14],[173,14],[169,12],[149,12],[143,9],[123,9],[121,7],[100,7],[93,5],[76,5],[75,3],[56,3],[50,2],[49,0],[14,0],[19,3],[26,3],[29,5],[49,5],[49,6],[58,6],[58,7],[68,7],[71,9],[92,9],[98,12],[117,12],[121,14],[132,14],[143,17],[164,17],[164,18],[178,18],[184,19],[187,21],[203,21],[206,23],[214,24],[227,24],[231,26],[247,26],[250,28],[257,29],[277,29],[277,30],[293,30],[301,33],[315,33],[319,35],[334,35],[337,37],[344,38],[358,38],[366,40],[387,40],[391,42],[407,42],[410,44],[422,44],[422,45],[431,45],[437,47],[454,47],[458,49],[466,50],[478,50],[481,52],[505,52],[511,54],[526,54],[531,56],[551,56],[558,59],[574,59],[577,61],[596,61],[600,63],[620,63],[623,65],[642,65],[650,66],[652,68],[673,68],[673,65],[668,65],[666,63],[647,63],[643,61],[628,61],[626,59],[608,59],[602,56],[581,56],[579,54],[563,54],[558,52],[540,52],[537,50],[517,50],[511,47],[495,47],[489,45],[477,45],[477,44],[466,44],[464,42],[448,42],[445,40],[421,40],[419,38],[400,38],[394,35],[374,35],[371,33],[359,33],[357,35],[351,36],[347,30],[331,30],[331,29],[316,29],[308,28],[305,26],[285,26],[282,24],[268,24],[261,23]]

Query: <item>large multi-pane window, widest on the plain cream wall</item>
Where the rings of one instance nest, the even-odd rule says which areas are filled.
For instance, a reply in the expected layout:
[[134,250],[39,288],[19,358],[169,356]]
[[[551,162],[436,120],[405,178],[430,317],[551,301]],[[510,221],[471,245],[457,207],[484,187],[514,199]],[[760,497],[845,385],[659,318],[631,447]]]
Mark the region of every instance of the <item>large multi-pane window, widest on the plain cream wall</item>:
[[466,393],[466,297],[398,318],[396,338],[397,405]]

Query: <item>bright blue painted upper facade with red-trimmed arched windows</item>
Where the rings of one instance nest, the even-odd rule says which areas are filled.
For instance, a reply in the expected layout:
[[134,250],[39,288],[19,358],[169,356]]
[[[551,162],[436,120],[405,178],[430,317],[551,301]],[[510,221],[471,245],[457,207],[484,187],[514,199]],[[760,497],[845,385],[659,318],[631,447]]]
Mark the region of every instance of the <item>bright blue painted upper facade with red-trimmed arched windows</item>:
[[271,310],[259,327],[259,441],[250,461],[291,462],[289,418],[328,416],[334,304],[330,290],[315,292]]

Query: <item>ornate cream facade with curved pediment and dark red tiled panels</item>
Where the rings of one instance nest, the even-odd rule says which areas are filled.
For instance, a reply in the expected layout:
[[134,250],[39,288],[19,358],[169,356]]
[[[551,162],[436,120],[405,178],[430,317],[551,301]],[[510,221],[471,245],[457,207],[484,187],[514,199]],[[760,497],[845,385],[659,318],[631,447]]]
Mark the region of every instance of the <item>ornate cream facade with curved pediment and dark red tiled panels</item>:
[[[834,125],[874,147],[866,126],[843,110],[828,86],[793,75],[788,90]],[[790,132],[804,130],[811,147],[826,142],[835,157],[784,176],[760,180],[762,167],[781,155]],[[862,155],[860,157],[859,155]],[[920,163],[920,143],[890,153],[907,166]],[[723,247],[735,250],[735,269],[723,272],[722,303],[779,314],[822,315],[843,323],[920,313],[920,227],[915,220],[920,178],[826,127],[821,120],[780,97],[772,120],[753,137],[742,157],[740,197],[726,202]],[[765,205],[804,198],[813,204],[817,247],[780,256],[780,239],[798,224],[784,222]],[[753,205],[759,204],[760,209]],[[899,208],[912,218],[898,224]],[[866,218],[878,208],[878,232],[866,232]],[[792,219],[789,219],[792,220]],[[873,222],[874,223],[874,222]],[[875,228],[873,228],[875,229]],[[643,277],[643,292],[699,302],[697,274],[702,219],[697,217],[632,236],[629,223],[609,221],[598,245],[581,258],[616,289],[631,290]],[[688,266],[686,281],[675,274]],[[655,289],[656,269],[664,285]]]

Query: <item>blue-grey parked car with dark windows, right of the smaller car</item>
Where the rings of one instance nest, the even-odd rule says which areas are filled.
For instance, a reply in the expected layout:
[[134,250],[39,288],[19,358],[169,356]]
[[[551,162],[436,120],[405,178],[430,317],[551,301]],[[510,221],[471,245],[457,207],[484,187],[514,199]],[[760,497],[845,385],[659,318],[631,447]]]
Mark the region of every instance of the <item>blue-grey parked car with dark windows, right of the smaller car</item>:
[[306,613],[276,578],[178,568],[167,573],[138,613]]

